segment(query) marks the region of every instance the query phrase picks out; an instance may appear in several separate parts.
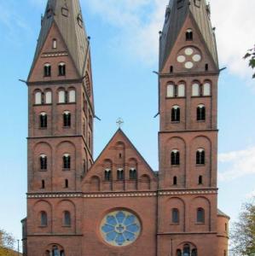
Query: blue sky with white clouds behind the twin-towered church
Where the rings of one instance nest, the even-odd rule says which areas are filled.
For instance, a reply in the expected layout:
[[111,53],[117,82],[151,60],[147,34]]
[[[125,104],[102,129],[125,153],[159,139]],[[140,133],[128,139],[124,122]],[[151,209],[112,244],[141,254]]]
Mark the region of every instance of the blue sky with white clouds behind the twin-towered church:
[[[158,32],[167,0],[81,0],[91,37],[96,101],[95,156],[116,131],[116,119],[158,170]],[[21,237],[26,216],[27,89],[46,0],[0,0],[1,134],[0,228]],[[251,0],[212,0],[219,81],[219,207],[233,219],[255,195],[255,80],[241,59],[255,38]]]

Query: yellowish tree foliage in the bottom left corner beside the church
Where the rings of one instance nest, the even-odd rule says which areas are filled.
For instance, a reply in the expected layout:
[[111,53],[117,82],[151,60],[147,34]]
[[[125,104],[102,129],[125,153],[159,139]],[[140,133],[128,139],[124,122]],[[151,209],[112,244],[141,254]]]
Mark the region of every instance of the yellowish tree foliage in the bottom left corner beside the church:
[[14,256],[14,237],[4,230],[0,230],[0,256]]

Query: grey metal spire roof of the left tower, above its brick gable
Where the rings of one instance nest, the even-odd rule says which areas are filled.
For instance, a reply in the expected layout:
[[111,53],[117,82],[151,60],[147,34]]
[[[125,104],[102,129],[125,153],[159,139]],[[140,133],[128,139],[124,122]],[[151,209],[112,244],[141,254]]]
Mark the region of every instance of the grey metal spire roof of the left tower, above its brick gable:
[[85,32],[84,20],[78,0],[48,0],[45,14],[42,18],[42,27],[32,68],[54,23],[67,45],[67,50],[72,57],[78,74],[83,77],[88,57],[89,39]]

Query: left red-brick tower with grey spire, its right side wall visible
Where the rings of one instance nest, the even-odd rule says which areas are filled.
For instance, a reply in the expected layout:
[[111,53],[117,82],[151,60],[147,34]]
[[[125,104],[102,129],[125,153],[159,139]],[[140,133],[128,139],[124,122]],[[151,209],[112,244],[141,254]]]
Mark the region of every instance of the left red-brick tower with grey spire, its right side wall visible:
[[81,255],[82,201],[76,195],[93,164],[90,38],[78,0],[49,0],[41,22],[27,79],[25,247],[28,255],[38,255],[39,248],[64,255],[65,245],[67,255]]

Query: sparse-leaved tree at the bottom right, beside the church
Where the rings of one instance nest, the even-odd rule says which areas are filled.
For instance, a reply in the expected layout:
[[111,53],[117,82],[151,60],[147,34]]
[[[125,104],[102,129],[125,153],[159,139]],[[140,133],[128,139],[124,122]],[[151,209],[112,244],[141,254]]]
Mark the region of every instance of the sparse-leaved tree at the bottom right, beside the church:
[[234,255],[255,256],[255,198],[246,203],[231,231]]

